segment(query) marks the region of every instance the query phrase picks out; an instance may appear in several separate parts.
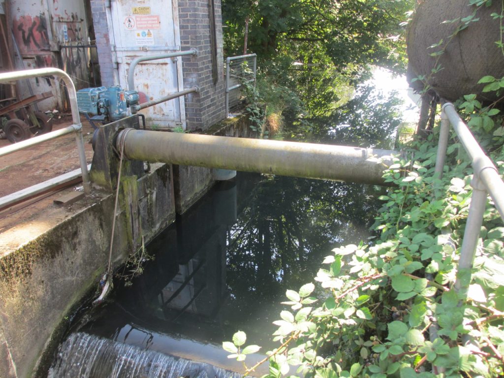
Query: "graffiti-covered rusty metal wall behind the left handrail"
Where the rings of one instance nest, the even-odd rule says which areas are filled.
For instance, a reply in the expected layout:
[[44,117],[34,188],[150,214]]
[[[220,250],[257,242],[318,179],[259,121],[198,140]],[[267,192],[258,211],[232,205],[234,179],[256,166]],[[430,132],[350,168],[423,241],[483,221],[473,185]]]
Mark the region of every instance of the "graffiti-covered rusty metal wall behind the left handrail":
[[[33,2],[11,0],[6,14],[12,26],[13,56],[19,49],[22,60],[15,59],[16,69],[56,67],[66,71],[77,89],[89,87],[89,51],[70,46],[87,45],[89,24],[82,0]],[[61,48],[61,46],[66,46]],[[30,79],[19,83],[22,98],[51,91],[53,97],[38,104],[41,110],[67,108],[62,90],[52,78]]]

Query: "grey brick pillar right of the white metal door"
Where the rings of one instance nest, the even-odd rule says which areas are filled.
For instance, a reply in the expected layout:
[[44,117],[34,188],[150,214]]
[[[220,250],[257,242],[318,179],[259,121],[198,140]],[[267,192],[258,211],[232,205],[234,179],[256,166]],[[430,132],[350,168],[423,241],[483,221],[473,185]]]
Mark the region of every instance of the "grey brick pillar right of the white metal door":
[[200,87],[200,93],[185,97],[187,129],[206,130],[225,118],[224,55],[222,46],[221,2],[214,0],[215,34],[217,42],[217,83],[212,72],[209,0],[179,0],[178,15],[181,49],[198,49],[198,56],[184,56],[182,71],[184,87]]

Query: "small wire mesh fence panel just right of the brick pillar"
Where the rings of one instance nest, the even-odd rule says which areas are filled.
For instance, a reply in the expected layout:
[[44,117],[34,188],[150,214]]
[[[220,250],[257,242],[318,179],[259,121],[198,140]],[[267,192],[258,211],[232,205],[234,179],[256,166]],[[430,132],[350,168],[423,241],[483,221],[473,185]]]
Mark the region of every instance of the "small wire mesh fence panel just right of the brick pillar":
[[231,57],[226,60],[226,73],[229,75],[226,80],[228,115],[237,112],[245,103],[243,83],[253,83],[256,80],[256,54],[244,55],[242,57]]

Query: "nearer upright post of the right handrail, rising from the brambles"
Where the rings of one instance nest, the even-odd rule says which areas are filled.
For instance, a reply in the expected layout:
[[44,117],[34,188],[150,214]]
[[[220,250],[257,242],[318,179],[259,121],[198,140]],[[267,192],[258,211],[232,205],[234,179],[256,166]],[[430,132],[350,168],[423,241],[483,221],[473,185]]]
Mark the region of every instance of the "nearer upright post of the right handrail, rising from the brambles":
[[[483,224],[483,214],[485,212],[487,193],[477,176],[473,176],[471,186],[473,187],[473,193],[471,195],[471,205],[469,205],[466,228],[464,230],[464,239],[462,240],[462,247],[460,248],[457,273],[463,271],[470,272],[472,269],[479,233],[481,231],[481,225]],[[457,274],[457,276],[459,276],[459,274]],[[455,290],[459,292],[461,290],[467,290],[469,283],[470,279],[461,280],[459,276],[455,282]]]

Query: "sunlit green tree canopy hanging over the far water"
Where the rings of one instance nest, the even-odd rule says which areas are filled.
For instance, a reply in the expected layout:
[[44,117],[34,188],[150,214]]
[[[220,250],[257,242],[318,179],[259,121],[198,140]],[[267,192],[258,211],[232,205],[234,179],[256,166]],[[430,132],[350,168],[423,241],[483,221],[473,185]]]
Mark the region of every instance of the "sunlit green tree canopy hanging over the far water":
[[223,0],[225,50],[247,51],[279,85],[293,89],[310,113],[330,111],[338,89],[362,81],[369,65],[403,71],[400,23],[412,0]]

